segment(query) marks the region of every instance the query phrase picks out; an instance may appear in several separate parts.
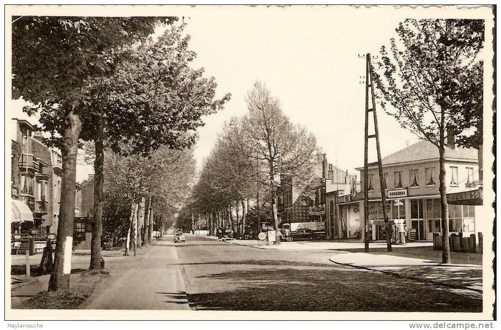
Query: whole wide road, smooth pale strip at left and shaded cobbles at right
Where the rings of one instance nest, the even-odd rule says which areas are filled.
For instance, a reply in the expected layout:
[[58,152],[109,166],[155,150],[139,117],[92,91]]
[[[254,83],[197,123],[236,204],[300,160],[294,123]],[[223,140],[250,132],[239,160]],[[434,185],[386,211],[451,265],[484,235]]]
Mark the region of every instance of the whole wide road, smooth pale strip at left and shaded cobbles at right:
[[168,235],[101,284],[90,309],[481,311],[481,295],[335,265],[333,251]]

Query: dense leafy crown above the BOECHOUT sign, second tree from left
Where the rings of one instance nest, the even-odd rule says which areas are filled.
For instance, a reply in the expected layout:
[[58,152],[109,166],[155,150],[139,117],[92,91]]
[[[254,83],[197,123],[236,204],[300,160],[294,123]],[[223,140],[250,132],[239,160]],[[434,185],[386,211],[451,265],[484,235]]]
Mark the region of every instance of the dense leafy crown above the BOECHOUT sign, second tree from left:
[[215,99],[214,78],[189,67],[195,53],[188,50],[189,36],[182,36],[184,26],[142,43],[124,56],[112,76],[89,87],[95,114],[83,119],[83,139],[95,136],[102,118],[108,147],[118,154],[146,156],[162,145],[183,149],[194,143],[202,117],[221,109],[230,95]]

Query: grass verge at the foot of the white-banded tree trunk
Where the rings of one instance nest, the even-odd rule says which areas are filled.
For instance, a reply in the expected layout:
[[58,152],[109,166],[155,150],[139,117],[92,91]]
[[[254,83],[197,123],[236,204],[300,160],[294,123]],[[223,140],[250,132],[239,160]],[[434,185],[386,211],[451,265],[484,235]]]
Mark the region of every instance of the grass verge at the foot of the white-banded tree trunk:
[[109,276],[106,270],[88,270],[81,273],[80,278],[70,285],[68,290],[49,292],[43,291],[30,298],[25,309],[75,309],[91,294],[96,283],[102,277]]

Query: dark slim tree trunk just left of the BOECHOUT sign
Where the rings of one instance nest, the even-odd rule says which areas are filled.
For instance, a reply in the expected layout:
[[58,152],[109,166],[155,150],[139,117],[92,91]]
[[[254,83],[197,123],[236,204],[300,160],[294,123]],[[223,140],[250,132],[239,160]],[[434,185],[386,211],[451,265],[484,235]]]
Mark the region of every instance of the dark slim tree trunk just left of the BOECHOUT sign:
[[104,164],[104,125],[99,116],[94,145],[96,160],[94,160],[94,220],[92,223],[91,264],[90,269],[101,268],[101,235],[103,232],[103,164]]

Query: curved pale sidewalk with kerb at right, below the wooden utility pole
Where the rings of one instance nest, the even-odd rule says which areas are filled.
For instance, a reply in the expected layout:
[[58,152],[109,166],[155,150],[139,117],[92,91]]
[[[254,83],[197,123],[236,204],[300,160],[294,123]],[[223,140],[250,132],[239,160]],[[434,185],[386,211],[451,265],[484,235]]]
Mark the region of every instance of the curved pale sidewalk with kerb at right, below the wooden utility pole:
[[337,264],[380,271],[396,277],[482,292],[480,265],[441,264],[426,259],[360,252],[334,254],[330,260]]

